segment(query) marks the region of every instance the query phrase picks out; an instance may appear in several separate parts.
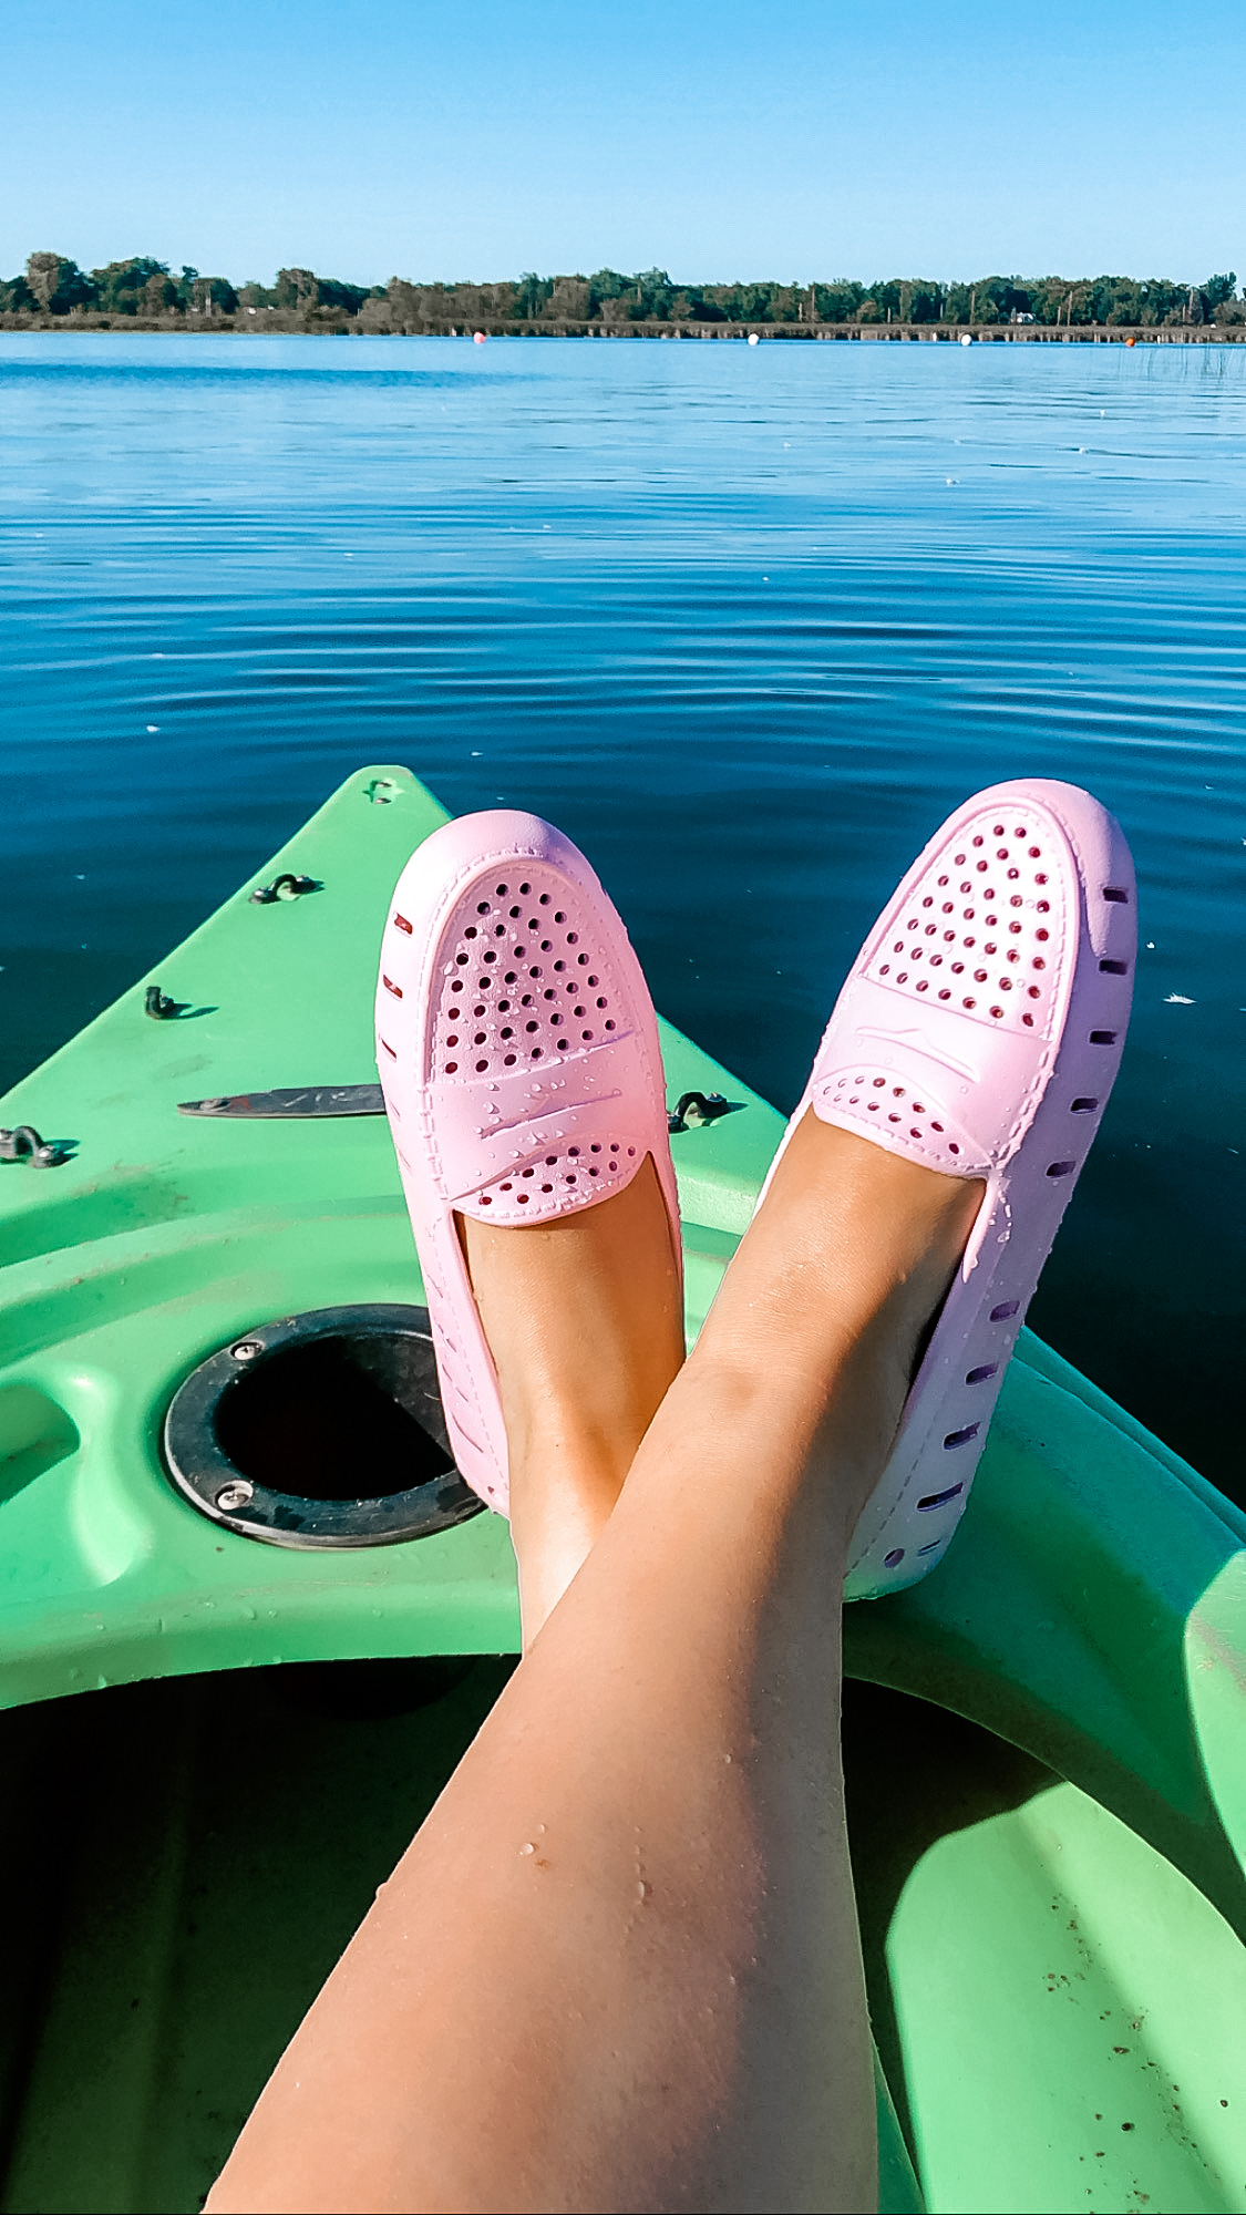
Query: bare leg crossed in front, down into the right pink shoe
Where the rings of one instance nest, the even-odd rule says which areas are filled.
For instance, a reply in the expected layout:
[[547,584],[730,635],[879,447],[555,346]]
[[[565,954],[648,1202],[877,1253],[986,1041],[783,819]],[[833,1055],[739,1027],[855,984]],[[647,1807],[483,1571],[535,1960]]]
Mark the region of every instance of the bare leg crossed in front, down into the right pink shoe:
[[876,2204],[838,1590],[978,1198],[803,1125],[213,2215]]

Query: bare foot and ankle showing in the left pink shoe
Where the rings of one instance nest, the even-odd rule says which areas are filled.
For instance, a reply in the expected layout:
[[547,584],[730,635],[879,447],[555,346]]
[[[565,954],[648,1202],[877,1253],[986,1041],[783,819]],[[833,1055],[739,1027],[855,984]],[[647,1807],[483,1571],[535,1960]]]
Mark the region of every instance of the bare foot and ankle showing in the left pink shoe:
[[683,1362],[683,1307],[652,1158],[625,1192],[556,1223],[459,1216],[497,1364],[523,1644],[605,1524]]

